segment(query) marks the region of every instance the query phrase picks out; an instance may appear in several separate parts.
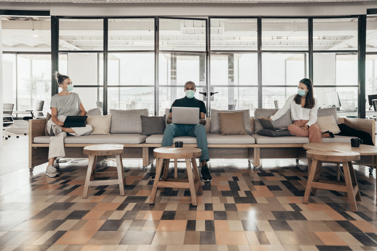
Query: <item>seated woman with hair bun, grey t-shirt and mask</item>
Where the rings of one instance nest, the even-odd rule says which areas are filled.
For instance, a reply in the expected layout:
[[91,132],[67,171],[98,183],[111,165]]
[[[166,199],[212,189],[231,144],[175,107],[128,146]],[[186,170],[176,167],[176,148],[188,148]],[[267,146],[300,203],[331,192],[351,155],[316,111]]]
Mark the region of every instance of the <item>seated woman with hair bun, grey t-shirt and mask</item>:
[[88,135],[93,130],[90,125],[86,125],[85,127],[63,127],[67,116],[85,116],[86,110],[78,94],[71,92],[73,84],[70,78],[57,71],[55,71],[54,76],[62,91],[52,96],[50,105],[51,119],[47,121],[47,132],[51,136],[48,166],[46,168],[46,175],[48,177],[59,176],[58,171],[54,168],[54,161],[66,155],[64,152],[64,138],[67,136],[67,133],[73,136],[81,136]]

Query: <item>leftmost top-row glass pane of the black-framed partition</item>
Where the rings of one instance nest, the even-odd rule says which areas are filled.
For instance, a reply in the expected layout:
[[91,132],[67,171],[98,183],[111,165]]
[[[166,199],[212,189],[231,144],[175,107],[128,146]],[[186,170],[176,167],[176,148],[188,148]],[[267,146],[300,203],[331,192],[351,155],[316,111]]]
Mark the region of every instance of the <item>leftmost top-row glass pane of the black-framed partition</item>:
[[103,19],[59,19],[59,50],[103,50]]

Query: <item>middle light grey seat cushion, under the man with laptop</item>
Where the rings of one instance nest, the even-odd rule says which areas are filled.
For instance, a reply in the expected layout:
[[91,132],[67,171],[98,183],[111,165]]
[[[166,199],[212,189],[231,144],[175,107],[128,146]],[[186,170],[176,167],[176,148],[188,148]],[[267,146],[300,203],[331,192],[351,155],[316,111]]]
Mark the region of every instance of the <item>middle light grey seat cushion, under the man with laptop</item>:
[[[146,139],[147,144],[161,144],[164,135],[151,135]],[[196,138],[181,136],[173,138],[175,141],[182,141],[183,144],[196,144]],[[220,133],[207,133],[208,144],[255,144],[255,139],[250,135],[220,135]]]

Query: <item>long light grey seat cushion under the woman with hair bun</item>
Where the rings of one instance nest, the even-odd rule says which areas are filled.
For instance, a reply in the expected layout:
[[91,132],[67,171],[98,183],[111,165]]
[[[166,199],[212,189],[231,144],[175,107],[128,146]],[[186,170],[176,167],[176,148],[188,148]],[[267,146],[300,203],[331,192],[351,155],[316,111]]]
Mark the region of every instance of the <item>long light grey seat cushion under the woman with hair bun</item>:
[[[84,135],[67,136],[64,138],[65,144],[140,144],[148,136],[133,133],[113,133],[110,135]],[[34,143],[50,143],[50,136],[38,136],[34,138]]]

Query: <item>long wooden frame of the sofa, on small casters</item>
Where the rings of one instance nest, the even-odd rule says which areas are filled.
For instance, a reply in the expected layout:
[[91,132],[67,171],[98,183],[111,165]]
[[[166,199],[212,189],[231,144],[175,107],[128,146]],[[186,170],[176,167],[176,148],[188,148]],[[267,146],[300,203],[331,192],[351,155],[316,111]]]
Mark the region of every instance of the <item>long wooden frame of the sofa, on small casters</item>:
[[[44,135],[46,119],[29,120],[29,171],[34,167],[48,161],[49,144],[34,143],[33,138]],[[250,118],[251,129],[254,131],[254,118]],[[356,130],[368,132],[375,144],[375,121],[374,119],[338,118],[338,122],[344,123]],[[207,118],[205,130],[210,129],[210,118]],[[83,154],[83,148],[91,144],[64,144],[67,157],[87,158]],[[185,144],[186,146],[197,147],[196,144]],[[153,149],[160,147],[160,144],[124,144],[123,158],[143,159],[143,169],[153,165],[155,157]],[[254,170],[260,166],[261,159],[296,159],[308,163],[303,144],[208,144],[208,152],[211,159],[247,159]],[[107,156],[113,157],[113,156]],[[367,157],[367,156],[365,156]],[[375,168],[376,160],[370,157],[363,159],[363,164],[369,168]],[[370,170],[369,170],[370,171]]]

